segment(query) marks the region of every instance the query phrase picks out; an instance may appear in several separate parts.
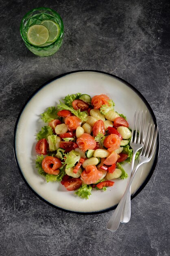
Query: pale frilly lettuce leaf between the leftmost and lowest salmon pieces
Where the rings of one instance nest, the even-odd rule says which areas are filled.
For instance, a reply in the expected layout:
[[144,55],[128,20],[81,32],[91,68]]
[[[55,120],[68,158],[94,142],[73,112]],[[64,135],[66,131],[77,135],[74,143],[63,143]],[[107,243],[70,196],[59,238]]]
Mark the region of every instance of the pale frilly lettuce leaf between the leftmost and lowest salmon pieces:
[[76,165],[77,162],[80,160],[80,153],[76,152],[75,150],[71,150],[69,153],[64,154],[64,162],[62,164],[65,165],[65,169],[72,168]]

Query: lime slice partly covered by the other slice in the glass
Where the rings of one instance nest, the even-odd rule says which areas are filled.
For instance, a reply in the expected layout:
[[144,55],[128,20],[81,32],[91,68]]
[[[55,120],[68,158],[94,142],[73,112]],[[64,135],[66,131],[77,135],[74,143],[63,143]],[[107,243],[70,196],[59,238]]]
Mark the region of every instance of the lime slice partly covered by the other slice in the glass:
[[59,33],[60,33],[59,25],[52,20],[43,20],[41,22],[41,25],[44,25],[49,31],[49,38],[47,43],[53,43],[59,36]]

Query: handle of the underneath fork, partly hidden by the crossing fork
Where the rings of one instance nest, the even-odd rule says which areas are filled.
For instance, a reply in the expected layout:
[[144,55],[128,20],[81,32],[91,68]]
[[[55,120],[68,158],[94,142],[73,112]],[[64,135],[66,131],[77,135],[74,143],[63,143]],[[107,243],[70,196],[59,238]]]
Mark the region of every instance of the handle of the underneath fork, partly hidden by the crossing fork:
[[[132,175],[136,153],[137,153],[137,151],[133,152],[133,157],[132,157],[132,162],[131,162],[131,169],[130,169],[130,172],[129,172],[129,180],[130,180],[131,175]],[[129,180],[128,180],[128,183],[129,183]],[[127,193],[126,200],[124,202],[124,208],[122,210],[122,216],[121,216],[120,222],[127,223],[127,222],[129,222],[130,218],[131,218],[131,186],[130,186],[129,191]]]

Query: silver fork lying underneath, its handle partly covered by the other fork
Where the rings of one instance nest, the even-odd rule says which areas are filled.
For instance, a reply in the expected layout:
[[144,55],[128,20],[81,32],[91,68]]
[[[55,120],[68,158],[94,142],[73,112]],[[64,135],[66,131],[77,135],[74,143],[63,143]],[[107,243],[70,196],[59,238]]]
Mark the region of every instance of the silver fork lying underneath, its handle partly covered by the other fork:
[[[138,111],[138,114],[136,116],[136,110],[135,110],[135,115],[134,115],[134,119],[133,119],[133,127],[132,127],[132,137],[131,137],[131,141],[130,141],[130,146],[133,149],[133,156],[132,156],[132,161],[131,161],[129,180],[132,175],[136,153],[143,146],[144,134],[145,134],[145,130],[146,130],[145,125],[146,125],[146,111],[145,111],[145,114],[143,113],[143,110],[142,110],[141,114]],[[139,137],[137,137],[138,130],[139,130]],[[135,132],[135,136],[134,136],[134,132]],[[129,182],[129,180],[128,180],[128,182]],[[127,223],[127,222],[129,222],[130,218],[131,218],[131,187],[127,193],[127,197],[126,197],[126,200],[124,203],[124,208],[122,211],[122,216],[121,216],[120,222]]]

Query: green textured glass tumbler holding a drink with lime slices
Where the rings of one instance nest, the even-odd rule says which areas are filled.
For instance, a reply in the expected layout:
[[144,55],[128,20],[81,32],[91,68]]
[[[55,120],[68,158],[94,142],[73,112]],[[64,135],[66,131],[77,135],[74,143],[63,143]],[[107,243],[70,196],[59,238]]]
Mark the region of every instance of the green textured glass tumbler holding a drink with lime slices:
[[[41,25],[44,20],[52,21],[56,27],[59,29],[59,33],[57,38],[50,42],[45,43],[44,45],[33,45],[28,40],[27,32],[28,29],[33,25]],[[43,23],[42,23],[43,24]],[[63,42],[63,34],[64,34],[64,26],[63,26],[63,20],[61,19],[60,15],[46,7],[39,7],[35,8],[23,17],[20,25],[20,33],[22,36],[22,39],[24,40],[24,43],[26,47],[33,52],[37,56],[51,56],[54,53],[56,53],[59,48],[62,45]]]

